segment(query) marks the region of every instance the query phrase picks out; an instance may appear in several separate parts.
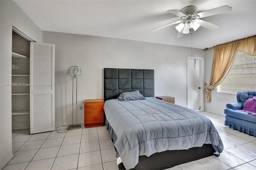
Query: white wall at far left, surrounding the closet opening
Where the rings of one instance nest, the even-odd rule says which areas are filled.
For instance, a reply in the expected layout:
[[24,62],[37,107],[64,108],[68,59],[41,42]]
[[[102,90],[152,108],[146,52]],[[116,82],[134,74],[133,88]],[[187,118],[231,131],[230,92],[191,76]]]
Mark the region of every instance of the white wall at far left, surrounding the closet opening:
[[[12,26],[18,28],[36,42],[42,42],[42,30],[13,1],[1,0],[0,4],[0,83],[11,83]],[[11,87],[1,87],[0,96],[0,101],[2,101],[0,104],[0,168],[2,169],[13,157]]]

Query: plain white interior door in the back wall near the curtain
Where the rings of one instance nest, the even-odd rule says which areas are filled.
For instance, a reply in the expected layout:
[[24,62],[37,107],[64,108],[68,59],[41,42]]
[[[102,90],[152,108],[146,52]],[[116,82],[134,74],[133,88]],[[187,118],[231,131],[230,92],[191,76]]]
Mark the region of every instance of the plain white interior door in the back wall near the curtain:
[[187,59],[187,107],[204,110],[204,58]]

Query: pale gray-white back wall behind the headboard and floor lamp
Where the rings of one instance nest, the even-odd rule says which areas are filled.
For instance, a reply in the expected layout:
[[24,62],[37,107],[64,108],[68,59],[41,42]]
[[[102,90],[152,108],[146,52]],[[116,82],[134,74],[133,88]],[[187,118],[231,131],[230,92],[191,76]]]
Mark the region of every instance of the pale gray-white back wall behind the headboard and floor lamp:
[[[186,106],[187,56],[191,48],[114,38],[43,32],[43,43],[55,44],[55,123],[72,123],[72,78],[66,76],[71,65],[78,65],[84,76],[78,77],[78,104],[84,99],[103,99],[103,68],[155,70],[155,95],[175,97]],[[204,57],[201,49],[193,55]],[[78,107],[78,108],[79,108]],[[78,122],[84,122],[78,110]]]

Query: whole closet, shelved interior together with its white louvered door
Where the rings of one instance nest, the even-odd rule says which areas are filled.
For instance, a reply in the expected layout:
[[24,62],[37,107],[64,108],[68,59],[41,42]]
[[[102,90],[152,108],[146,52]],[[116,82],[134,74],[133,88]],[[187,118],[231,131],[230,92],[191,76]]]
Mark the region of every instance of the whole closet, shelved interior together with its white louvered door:
[[54,130],[53,44],[12,32],[12,129]]

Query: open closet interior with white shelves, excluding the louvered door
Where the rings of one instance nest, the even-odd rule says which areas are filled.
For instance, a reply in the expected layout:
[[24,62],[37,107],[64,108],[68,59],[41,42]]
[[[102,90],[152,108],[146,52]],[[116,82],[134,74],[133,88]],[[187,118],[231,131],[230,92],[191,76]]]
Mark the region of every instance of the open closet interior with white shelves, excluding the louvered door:
[[30,128],[30,40],[12,31],[12,129]]

